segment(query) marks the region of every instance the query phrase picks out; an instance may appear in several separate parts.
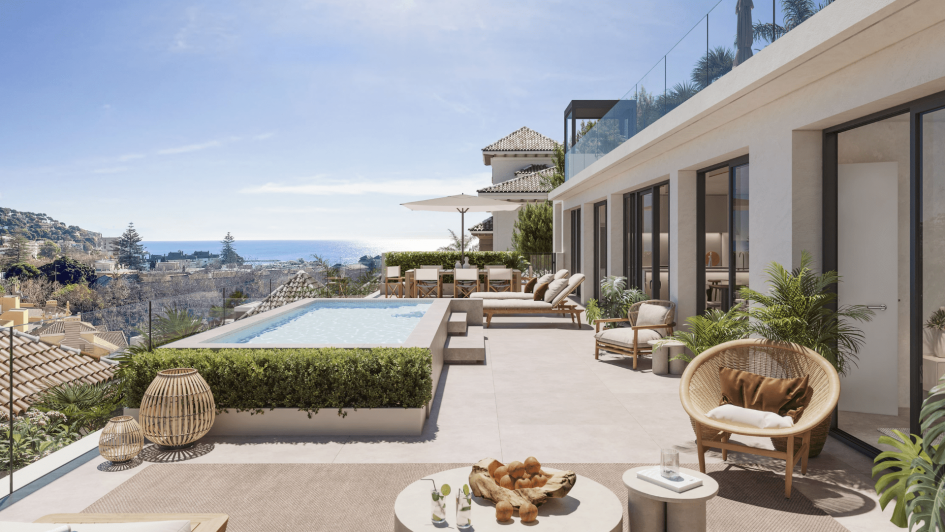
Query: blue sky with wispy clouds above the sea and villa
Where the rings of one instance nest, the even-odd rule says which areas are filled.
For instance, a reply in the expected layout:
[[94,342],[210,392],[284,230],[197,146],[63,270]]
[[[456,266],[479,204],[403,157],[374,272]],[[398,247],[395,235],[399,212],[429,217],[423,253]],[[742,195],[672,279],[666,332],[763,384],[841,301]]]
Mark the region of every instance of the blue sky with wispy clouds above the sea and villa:
[[[0,0],[0,206],[145,240],[443,238],[718,0]],[[466,226],[487,214],[470,214]]]

